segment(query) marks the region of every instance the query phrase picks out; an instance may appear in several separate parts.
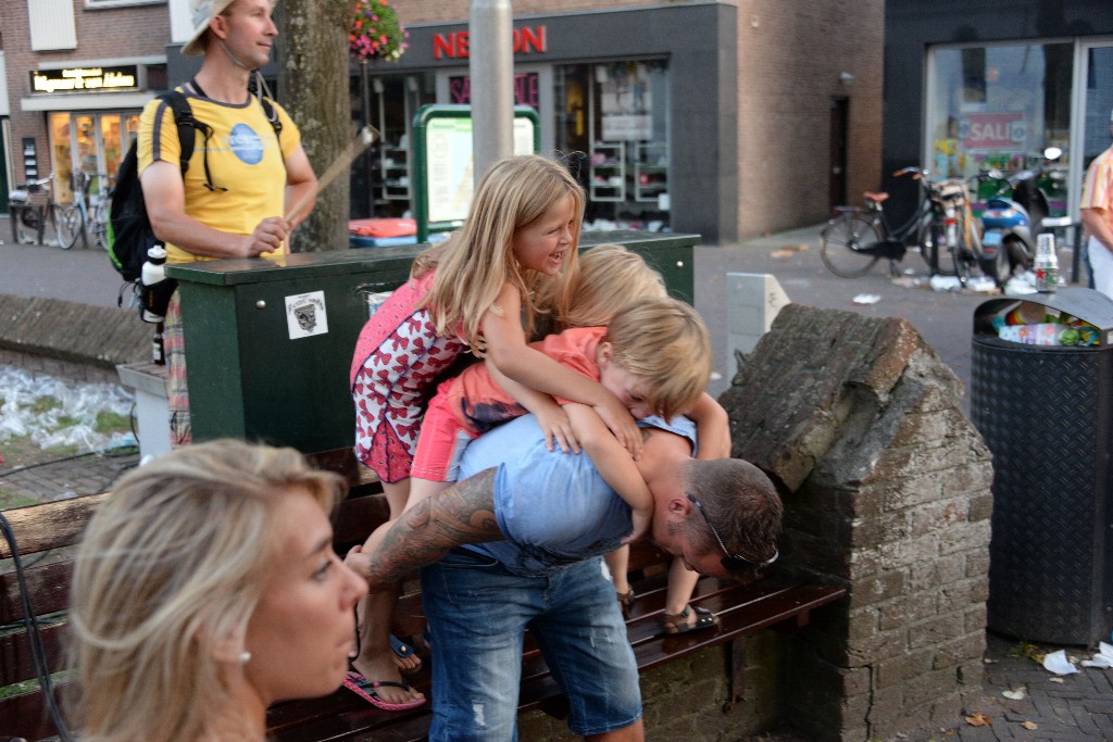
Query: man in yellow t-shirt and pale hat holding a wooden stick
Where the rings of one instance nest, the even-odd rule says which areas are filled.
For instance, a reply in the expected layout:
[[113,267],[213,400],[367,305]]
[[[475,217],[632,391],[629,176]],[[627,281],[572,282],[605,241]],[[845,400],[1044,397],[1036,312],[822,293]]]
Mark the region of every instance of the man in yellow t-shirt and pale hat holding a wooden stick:
[[[139,178],[151,227],[166,243],[170,264],[285,254],[290,231],[312,202],[289,219],[286,209],[312,195],[317,179],[286,111],[272,103],[282,123],[276,136],[259,99],[247,89],[278,34],[270,0],[190,0],[190,10],[194,33],[181,53],[205,59],[179,90],[194,118],[211,130],[196,132],[183,178],[173,110],[157,99],[144,109]],[[167,309],[164,343],[170,441],[185,445],[191,436],[177,291]]]

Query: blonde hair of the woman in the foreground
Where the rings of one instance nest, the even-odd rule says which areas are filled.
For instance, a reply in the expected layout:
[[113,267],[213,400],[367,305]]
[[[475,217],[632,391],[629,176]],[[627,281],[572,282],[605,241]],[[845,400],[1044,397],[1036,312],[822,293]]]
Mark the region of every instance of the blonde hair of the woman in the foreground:
[[83,741],[194,742],[211,731],[229,703],[214,649],[243,640],[284,547],[274,515],[292,488],[327,513],[343,481],[293,448],[215,441],[116,483],[89,522],[70,587]]

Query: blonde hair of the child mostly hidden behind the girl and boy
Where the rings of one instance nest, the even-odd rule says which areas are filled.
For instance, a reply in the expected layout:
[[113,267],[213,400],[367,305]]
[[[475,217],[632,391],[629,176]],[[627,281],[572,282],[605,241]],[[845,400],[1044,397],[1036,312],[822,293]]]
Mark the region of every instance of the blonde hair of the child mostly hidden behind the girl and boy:
[[621,245],[598,245],[580,256],[580,278],[563,327],[605,327],[631,301],[668,295],[661,274],[640,255]]

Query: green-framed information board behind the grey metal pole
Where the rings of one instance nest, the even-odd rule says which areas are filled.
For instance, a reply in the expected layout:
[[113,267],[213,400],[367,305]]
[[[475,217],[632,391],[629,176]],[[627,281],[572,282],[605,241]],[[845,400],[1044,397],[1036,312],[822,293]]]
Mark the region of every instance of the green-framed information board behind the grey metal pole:
[[[541,149],[538,112],[514,107],[514,154]],[[423,106],[414,118],[414,212],[417,241],[464,222],[472,204],[472,107]]]

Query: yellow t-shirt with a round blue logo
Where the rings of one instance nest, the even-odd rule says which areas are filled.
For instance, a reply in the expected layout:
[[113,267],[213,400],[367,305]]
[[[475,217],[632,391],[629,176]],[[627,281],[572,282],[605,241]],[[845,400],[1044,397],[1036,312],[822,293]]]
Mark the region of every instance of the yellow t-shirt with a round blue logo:
[[[267,217],[283,216],[286,196],[285,158],[302,141],[302,135],[286,111],[273,103],[282,121],[282,135],[275,137],[263,105],[254,96],[246,105],[232,106],[194,95],[184,88],[197,121],[211,128],[208,137],[200,129],[194,135],[194,154],[185,175],[186,214],[214,229],[235,235],[250,235]],[[157,135],[157,136],[156,136]],[[139,174],[155,160],[178,167],[180,142],[168,103],[154,99],[139,117]],[[206,187],[205,160],[214,190]],[[264,254],[273,256],[283,250]],[[167,263],[211,260],[175,245],[166,246]]]

